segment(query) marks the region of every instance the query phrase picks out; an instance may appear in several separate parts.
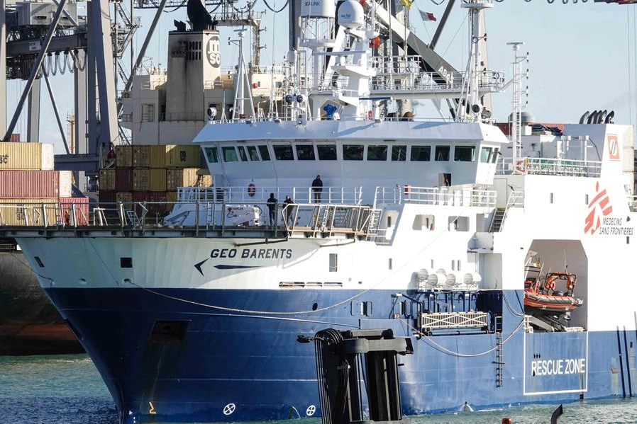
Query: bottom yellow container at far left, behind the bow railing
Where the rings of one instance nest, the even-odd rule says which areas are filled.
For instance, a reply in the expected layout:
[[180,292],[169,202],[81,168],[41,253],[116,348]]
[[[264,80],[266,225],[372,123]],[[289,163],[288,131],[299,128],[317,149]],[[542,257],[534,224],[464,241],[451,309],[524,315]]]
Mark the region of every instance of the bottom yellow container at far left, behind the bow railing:
[[0,199],[0,225],[48,225],[61,223],[57,199]]

